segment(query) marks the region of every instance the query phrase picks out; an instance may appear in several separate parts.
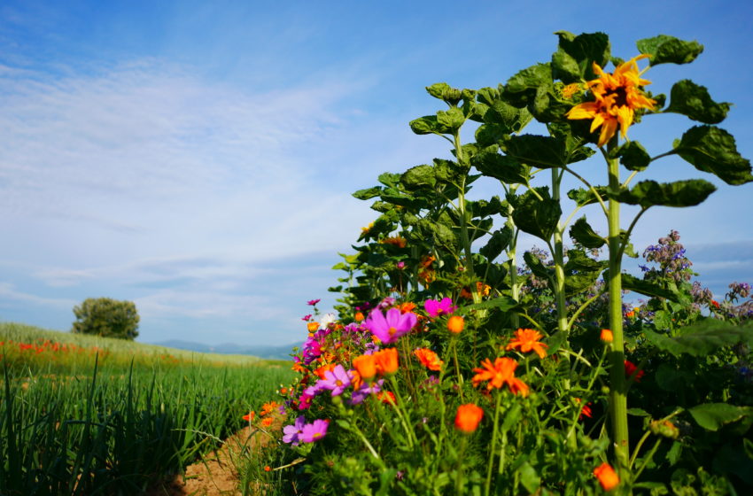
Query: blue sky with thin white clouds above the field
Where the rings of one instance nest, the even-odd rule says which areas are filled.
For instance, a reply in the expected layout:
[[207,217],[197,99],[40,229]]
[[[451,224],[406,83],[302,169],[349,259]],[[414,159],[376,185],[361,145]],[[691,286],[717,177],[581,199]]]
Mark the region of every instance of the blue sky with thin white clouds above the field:
[[[408,128],[439,109],[423,88],[496,86],[547,61],[557,30],[605,31],[623,58],[660,33],[703,43],[694,64],[652,68],[651,89],[689,78],[733,102],[721,126],[753,156],[753,4],[607,5],[0,4],[0,320],[66,330],[107,296],[136,301],[144,342],[300,341],[306,300],[330,308],[330,267],[375,217],[350,194],[448,155]],[[658,153],[689,125],[656,116],[631,137]],[[602,182],[599,162],[580,167]],[[718,192],[649,212],[634,243],[678,229],[722,296],[753,283],[753,185],[675,159],[644,174],[693,177]]]

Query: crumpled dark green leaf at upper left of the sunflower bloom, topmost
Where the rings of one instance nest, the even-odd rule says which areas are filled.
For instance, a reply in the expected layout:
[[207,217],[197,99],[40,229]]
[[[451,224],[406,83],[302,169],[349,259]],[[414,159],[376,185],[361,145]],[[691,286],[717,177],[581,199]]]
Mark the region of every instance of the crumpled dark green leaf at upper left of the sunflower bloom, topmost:
[[592,80],[594,62],[606,66],[609,62],[609,36],[603,33],[573,35],[567,31],[557,31],[559,48],[552,56],[552,75],[565,84]]

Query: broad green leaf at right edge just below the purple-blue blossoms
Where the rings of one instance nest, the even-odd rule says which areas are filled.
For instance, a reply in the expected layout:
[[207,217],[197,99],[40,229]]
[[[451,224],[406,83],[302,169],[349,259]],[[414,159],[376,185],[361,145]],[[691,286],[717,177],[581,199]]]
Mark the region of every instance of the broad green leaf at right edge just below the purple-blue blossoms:
[[660,350],[679,356],[706,356],[724,346],[747,343],[753,338],[753,327],[708,319],[692,326],[679,329],[674,337],[656,334],[644,329],[648,341]]

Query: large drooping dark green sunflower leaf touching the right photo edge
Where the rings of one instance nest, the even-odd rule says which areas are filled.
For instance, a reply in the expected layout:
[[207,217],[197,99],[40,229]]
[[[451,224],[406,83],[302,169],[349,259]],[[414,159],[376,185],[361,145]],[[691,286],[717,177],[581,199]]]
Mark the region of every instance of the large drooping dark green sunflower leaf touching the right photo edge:
[[686,131],[672,151],[696,169],[715,174],[727,184],[753,181],[750,160],[737,151],[734,137],[715,126],[695,126]]

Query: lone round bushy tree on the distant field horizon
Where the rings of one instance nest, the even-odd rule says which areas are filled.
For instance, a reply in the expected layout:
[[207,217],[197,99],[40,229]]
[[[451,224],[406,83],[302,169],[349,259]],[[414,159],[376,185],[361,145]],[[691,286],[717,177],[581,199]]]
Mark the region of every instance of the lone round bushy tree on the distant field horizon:
[[102,337],[135,339],[138,336],[138,312],[133,301],[113,298],[86,298],[74,306],[76,321],[72,332]]

